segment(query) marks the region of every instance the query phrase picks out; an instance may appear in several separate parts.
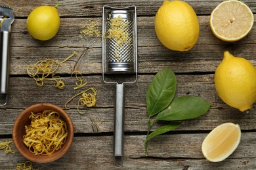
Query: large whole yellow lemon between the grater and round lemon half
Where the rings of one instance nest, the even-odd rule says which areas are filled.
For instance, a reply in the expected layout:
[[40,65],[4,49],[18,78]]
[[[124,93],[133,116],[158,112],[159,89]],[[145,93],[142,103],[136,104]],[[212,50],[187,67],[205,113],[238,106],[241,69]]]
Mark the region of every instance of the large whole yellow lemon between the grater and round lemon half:
[[184,1],[164,1],[155,17],[160,42],[171,50],[188,51],[198,41],[200,26],[196,12]]

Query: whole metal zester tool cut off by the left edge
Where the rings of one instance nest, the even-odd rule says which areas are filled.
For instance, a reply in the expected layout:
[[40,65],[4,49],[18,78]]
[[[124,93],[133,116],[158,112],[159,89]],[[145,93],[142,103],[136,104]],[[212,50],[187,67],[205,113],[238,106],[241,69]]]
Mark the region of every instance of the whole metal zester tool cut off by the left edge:
[[5,103],[1,103],[0,107],[3,107],[7,104],[11,48],[11,24],[13,21],[14,14],[11,7],[0,6],[0,90],[1,95],[5,95]]

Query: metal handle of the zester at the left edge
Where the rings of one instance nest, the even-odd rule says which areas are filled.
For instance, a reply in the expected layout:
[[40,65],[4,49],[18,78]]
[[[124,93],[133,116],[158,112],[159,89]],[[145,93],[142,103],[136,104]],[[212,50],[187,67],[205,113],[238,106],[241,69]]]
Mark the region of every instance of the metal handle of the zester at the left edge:
[[3,107],[7,104],[7,93],[9,84],[9,63],[10,63],[10,48],[11,48],[11,32],[1,31],[0,35],[0,90],[1,94],[5,95],[5,103],[0,104]]

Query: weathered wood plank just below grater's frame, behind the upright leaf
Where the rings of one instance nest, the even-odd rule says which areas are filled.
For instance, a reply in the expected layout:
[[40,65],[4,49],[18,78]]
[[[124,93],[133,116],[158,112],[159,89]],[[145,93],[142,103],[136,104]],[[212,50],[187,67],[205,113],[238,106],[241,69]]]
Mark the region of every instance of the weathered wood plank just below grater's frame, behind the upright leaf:
[[[60,75],[62,76],[62,75]],[[125,100],[126,107],[137,108],[146,107],[146,90],[154,75],[139,75],[135,84],[126,84]],[[116,76],[116,80],[121,77]],[[66,101],[75,93],[95,87],[98,90],[97,107],[113,107],[114,106],[114,84],[104,84],[101,75],[84,76],[87,85],[77,92],[73,89],[77,81],[74,76],[62,76],[65,88],[59,90],[54,85],[56,82],[45,80],[45,84],[40,87],[35,84],[32,77],[11,77],[9,105],[7,108],[24,108],[32,103],[52,102],[56,105],[64,106]],[[177,95],[200,95],[209,102],[221,103],[221,99],[217,97],[215,92],[213,75],[177,75]],[[76,101],[72,101],[70,107],[75,107]]]

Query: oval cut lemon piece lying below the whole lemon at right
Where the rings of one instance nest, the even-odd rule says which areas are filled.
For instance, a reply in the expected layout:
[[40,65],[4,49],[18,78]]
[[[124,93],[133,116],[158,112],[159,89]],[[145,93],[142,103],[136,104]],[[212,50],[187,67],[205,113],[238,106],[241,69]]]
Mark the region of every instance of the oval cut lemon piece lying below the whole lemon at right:
[[238,124],[224,123],[215,127],[203,140],[203,156],[213,162],[228,158],[238,147],[241,129]]

